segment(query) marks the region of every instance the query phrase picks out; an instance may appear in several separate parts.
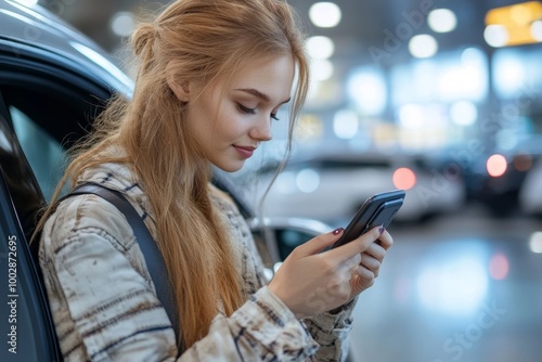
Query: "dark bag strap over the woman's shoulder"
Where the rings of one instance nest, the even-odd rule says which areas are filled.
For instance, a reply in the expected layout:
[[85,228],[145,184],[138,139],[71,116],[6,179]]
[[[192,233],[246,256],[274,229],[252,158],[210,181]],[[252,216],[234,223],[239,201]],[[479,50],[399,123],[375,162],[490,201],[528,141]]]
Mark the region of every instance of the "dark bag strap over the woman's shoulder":
[[171,294],[171,285],[169,276],[166,270],[166,264],[164,262],[164,257],[162,256],[156,242],[149,232],[143,219],[139,216],[138,211],[126,199],[126,197],[116,190],[107,189],[101,184],[87,182],[74,189],[70,193],[61,198],[61,201],[74,196],[93,194],[100,196],[113,204],[120,212],[122,212],[128,220],[128,223],[133,230],[133,234],[138,241],[139,247],[143,257],[145,258],[146,267],[149,273],[154,282],[156,288],[156,295],[158,300],[166,309],[166,312],[171,321],[176,337],[179,336],[179,319],[177,313],[177,308],[175,308],[175,298]]

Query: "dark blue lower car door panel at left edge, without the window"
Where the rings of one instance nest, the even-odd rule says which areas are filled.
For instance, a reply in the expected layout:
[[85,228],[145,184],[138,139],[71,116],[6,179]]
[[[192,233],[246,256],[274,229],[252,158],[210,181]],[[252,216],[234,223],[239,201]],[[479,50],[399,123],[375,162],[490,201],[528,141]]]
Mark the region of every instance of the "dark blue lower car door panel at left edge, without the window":
[[60,361],[44,288],[20,218],[20,211],[34,214],[43,197],[11,125],[0,93],[0,360]]

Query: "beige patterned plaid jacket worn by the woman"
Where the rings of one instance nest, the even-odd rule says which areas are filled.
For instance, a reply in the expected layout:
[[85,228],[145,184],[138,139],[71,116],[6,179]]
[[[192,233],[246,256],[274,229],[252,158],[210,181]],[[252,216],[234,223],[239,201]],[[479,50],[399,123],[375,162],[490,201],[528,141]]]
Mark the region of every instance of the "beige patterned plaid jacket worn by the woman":
[[[151,207],[129,168],[105,164],[87,171],[124,192],[155,237]],[[211,188],[229,225],[246,302],[218,314],[208,334],[178,355],[170,321],[158,301],[132,230],[94,195],[62,202],[46,223],[40,266],[66,361],[338,361],[346,358],[354,302],[333,315],[297,320],[266,286],[250,231],[230,201]]]

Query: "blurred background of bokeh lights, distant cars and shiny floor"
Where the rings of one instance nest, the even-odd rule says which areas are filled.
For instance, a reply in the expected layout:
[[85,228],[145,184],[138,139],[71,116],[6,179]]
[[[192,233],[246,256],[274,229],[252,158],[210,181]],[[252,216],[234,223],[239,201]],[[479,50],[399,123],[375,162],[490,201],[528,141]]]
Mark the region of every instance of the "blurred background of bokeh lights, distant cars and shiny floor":
[[[134,24],[168,1],[42,0],[128,74]],[[345,227],[405,189],[396,245],[356,309],[353,361],[541,361],[542,2],[291,0],[313,82],[264,204]],[[234,174],[257,206],[287,116]]]

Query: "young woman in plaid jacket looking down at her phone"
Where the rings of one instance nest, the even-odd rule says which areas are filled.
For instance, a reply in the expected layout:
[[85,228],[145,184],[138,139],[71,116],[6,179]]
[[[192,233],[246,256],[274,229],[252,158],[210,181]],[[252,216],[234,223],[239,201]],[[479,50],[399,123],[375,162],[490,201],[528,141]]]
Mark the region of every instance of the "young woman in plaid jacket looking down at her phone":
[[292,105],[292,129],[304,104],[309,69],[292,9],[178,0],[132,43],[141,62],[133,98],[101,115],[57,194],[64,182],[91,181],[126,195],[164,255],[181,333],[124,216],[98,196],[73,196],[48,210],[40,245],[65,360],[344,359],[356,297],[377,276],[391,236],[376,228],[320,253],[341,230],[320,235],[268,285],[245,221],[209,182],[211,165],[236,171],[271,139],[281,106]]

